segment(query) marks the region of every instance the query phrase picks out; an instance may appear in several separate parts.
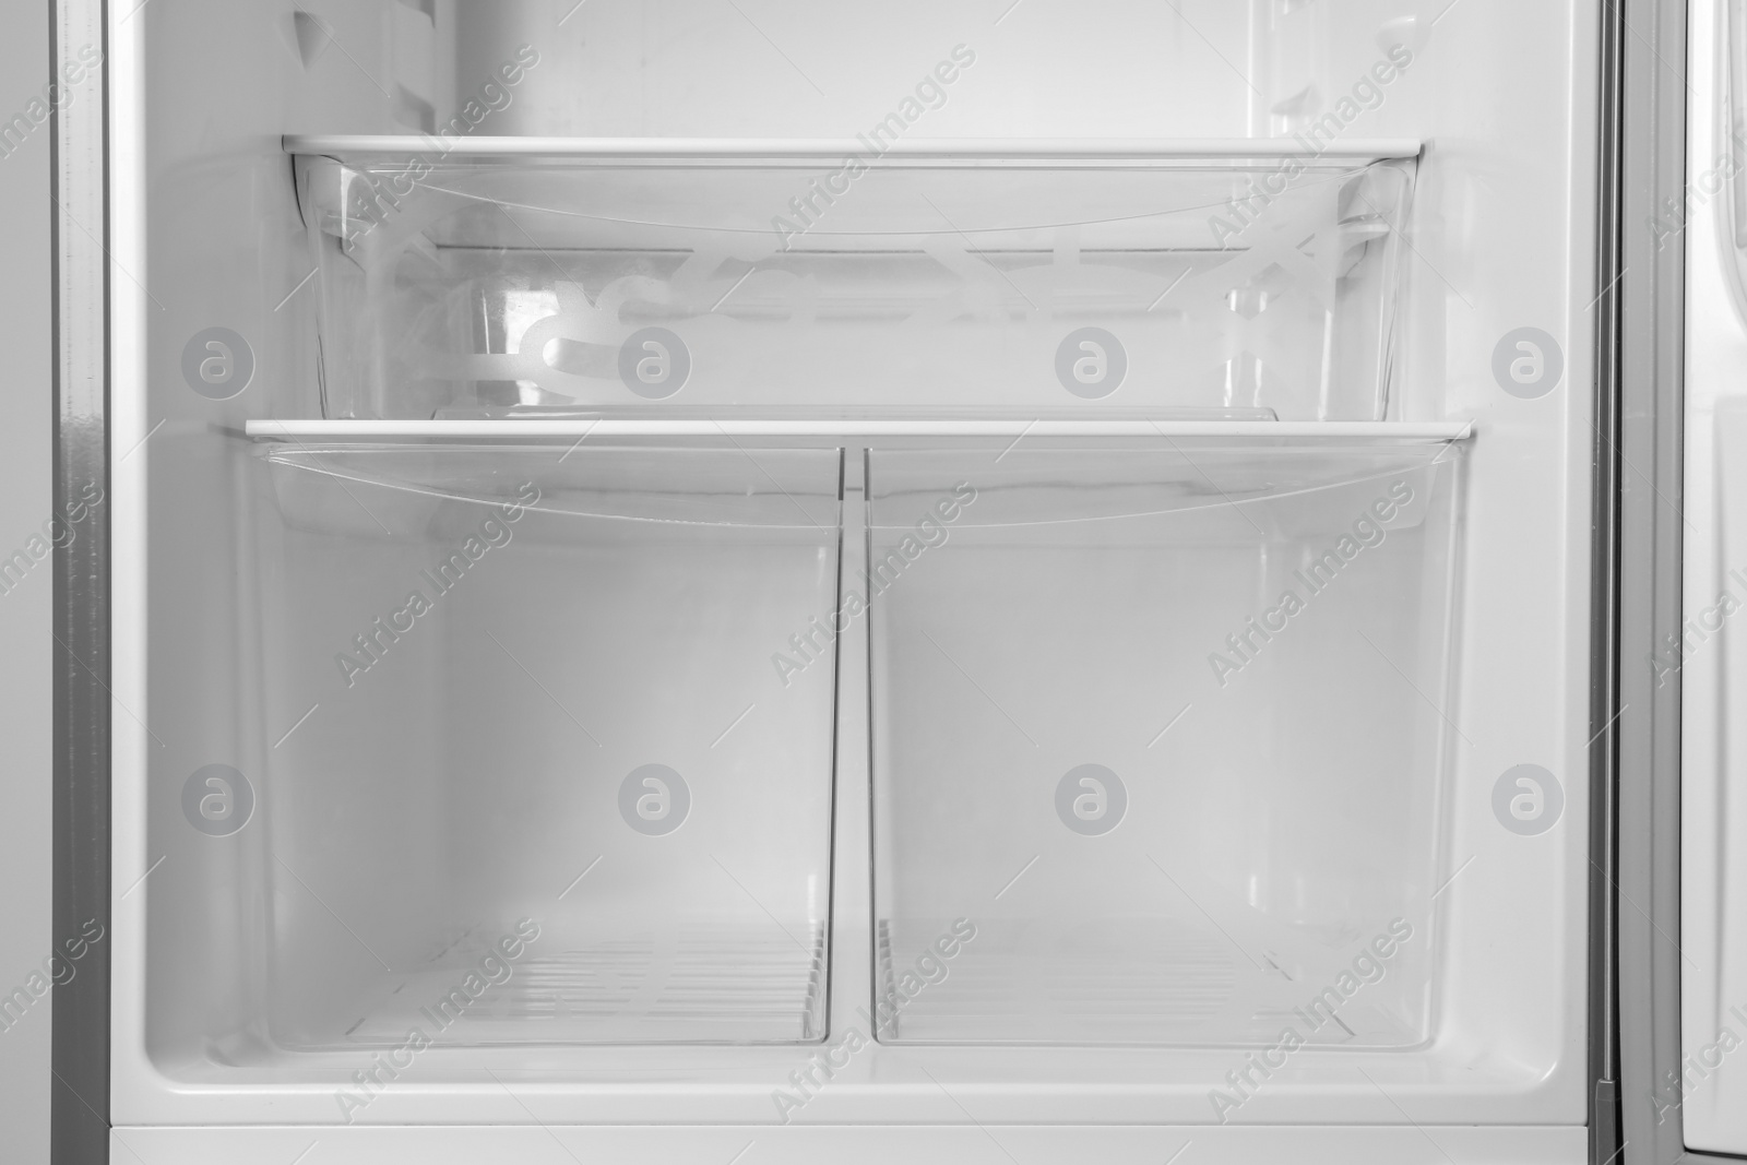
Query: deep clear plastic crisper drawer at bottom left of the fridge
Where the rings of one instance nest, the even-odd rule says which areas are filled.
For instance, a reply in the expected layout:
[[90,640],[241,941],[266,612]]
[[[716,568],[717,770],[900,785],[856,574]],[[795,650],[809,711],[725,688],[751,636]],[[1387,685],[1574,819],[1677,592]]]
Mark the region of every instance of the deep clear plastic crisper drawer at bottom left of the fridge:
[[783,686],[770,655],[837,594],[840,470],[259,449],[248,1027],[300,1050],[819,1039],[835,676]]

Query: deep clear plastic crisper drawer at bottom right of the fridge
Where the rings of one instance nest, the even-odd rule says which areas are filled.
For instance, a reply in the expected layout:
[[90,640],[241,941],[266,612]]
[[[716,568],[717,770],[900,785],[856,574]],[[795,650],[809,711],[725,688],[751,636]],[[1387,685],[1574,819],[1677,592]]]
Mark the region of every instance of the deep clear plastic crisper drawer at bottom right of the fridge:
[[882,1039],[1427,1037],[1459,449],[870,452]]

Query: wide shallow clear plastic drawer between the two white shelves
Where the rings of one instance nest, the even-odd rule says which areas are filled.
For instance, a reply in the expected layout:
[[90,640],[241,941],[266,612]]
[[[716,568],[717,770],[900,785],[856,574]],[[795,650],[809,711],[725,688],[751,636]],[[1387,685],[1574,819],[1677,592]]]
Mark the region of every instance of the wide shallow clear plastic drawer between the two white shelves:
[[379,419],[1384,419],[1417,148],[1394,147],[288,141],[323,416]]

